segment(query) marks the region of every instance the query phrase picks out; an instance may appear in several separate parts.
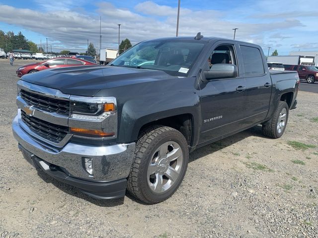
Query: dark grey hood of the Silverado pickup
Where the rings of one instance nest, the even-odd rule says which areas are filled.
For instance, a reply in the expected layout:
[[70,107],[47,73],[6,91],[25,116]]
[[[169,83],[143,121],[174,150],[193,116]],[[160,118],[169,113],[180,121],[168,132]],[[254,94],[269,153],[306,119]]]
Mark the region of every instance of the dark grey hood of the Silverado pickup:
[[25,74],[21,80],[65,94],[94,96],[102,89],[172,78],[163,71],[120,66],[74,66]]

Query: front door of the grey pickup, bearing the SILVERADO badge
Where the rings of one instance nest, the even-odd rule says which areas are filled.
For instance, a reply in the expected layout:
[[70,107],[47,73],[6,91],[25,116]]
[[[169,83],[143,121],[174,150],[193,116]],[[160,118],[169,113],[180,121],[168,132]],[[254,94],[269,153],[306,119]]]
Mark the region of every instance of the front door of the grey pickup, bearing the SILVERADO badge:
[[204,61],[211,64],[232,63],[238,66],[235,78],[212,79],[200,85],[201,135],[199,144],[227,135],[243,127],[245,79],[237,57],[237,45],[232,41],[215,43]]

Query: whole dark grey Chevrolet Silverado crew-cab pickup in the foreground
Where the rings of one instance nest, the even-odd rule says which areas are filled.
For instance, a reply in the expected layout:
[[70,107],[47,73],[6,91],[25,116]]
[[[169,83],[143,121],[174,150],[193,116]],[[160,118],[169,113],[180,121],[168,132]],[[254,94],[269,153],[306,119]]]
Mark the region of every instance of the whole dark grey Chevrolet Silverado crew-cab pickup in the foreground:
[[[37,169],[100,199],[169,198],[189,152],[255,125],[282,136],[297,72],[262,49],[215,37],[144,41],[107,66],[55,68],[17,82],[13,135]],[[213,163],[213,162],[211,162]]]

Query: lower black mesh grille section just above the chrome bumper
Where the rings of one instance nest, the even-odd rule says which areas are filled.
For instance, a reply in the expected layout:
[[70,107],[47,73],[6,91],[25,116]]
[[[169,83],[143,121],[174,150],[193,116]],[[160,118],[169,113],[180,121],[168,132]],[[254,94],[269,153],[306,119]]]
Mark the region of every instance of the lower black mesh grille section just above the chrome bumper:
[[23,111],[21,111],[21,119],[34,133],[54,143],[61,142],[69,131],[67,126],[57,125],[35,117],[30,117]]

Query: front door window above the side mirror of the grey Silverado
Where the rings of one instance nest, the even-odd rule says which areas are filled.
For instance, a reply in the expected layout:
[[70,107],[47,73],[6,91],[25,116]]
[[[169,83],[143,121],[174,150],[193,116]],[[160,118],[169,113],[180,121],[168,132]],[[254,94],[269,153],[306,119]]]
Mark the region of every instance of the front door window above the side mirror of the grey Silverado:
[[232,45],[221,45],[215,48],[209,58],[209,66],[217,63],[231,63],[236,64],[234,47]]

